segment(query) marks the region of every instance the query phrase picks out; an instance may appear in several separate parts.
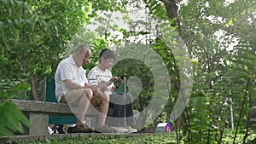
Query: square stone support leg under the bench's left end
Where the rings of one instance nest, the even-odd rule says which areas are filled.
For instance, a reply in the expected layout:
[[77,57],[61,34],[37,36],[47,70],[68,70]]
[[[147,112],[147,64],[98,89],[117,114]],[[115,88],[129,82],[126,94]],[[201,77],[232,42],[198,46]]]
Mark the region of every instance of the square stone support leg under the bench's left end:
[[48,134],[48,119],[49,115],[45,113],[29,113],[29,135],[43,135]]

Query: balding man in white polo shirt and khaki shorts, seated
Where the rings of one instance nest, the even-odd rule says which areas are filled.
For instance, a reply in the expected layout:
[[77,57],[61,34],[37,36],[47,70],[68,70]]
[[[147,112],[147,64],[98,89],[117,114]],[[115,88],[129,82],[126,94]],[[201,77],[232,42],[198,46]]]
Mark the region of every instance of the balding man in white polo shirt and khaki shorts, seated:
[[90,86],[84,65],[90,62],[91,51],[87,45],[79,45],[74,54],[61,60],[55,72],[55,96],[57,101],[67,103],[77,117],[72,133],[88,133],[94,130],[84,124],[84,116],[91,103],[99,107],[96,131],[116,132],[105,125],[109,95]]

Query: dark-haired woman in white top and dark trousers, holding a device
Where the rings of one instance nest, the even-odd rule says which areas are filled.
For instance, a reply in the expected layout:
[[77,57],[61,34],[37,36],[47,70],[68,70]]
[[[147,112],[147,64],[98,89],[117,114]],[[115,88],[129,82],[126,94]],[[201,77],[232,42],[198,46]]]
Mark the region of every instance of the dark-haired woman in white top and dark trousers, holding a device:
[[[102,49],[99,64],[90,70],[88,78],[96,79],[97,86],[109,95],[109,107],[113,108],[113,112],[106,119],[108,126],[124,133],[134,133],[137,130],[131,127],[135,125],[132,96],[129,93],[115,92],[123,83],[123,79],[113,77],[109,70],[113,66],[115,57],[112,50]],[[113,81],[117,81],[117,84],[114,85]]]

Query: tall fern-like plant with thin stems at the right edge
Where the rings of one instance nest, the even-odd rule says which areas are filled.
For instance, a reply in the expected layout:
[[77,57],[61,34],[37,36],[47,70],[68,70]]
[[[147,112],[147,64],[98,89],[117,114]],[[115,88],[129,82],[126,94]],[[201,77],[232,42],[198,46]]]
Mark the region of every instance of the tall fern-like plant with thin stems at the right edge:
[[[238,131],[244,130],[245,142],[248,131],[250,130],[250,108],[253,106],[253,101],[256,101],[252,95],[256,94],[255,89],[255,72],[256,72],[256,49],[255,45],[250,43],[241,43],[236,46],[233,51],[235,55],[230,57],[230,72],[227,77],[230,80],[230,92],[235,103],[241,103],[236,107],[239,112],[239,117],[236,120],[236,133],[233,143],[236,142]],[[245,125],[245,127],[243,126]],[[240,129],[239,129],[240,128]]]

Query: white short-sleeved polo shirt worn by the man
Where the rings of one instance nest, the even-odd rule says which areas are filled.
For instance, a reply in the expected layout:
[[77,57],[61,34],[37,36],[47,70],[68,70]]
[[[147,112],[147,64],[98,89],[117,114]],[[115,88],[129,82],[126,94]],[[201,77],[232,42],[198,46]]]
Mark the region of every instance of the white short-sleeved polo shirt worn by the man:
[[61,100],[61,96],[67,94],[72,89],[67,89],[64,80],[70,79],[75,84],[84,86],[88,83],[85,70],[82,66],[77,66],[72,55],[67,59],[61,60],[55,73],[55,97],[57,101]]

